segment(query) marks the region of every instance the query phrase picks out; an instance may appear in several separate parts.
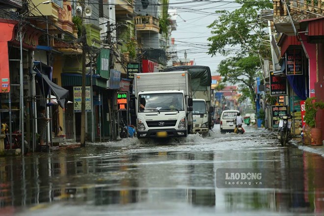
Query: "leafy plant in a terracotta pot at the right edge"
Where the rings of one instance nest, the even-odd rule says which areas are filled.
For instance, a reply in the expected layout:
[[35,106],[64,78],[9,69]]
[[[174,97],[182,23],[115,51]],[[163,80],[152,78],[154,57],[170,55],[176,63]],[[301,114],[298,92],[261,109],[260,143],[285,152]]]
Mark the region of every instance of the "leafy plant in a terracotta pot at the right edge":
[[311,128],[311,145],[322,145],[322,129],[316,125],[316,113],[319,109],[324,109],[324,102],[315,101],[316,98],[307,98],[305,101],[305,116],[306,124]]

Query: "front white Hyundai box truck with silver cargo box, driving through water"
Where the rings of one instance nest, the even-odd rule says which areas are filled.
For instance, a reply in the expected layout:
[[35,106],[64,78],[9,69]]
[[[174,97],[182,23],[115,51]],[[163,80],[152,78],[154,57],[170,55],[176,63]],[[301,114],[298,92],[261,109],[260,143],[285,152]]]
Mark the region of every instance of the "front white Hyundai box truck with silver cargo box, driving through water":
[[187,71],[138,73],[134,75],[133,87],[137,138],[171,138],[191,133],[192,98]]

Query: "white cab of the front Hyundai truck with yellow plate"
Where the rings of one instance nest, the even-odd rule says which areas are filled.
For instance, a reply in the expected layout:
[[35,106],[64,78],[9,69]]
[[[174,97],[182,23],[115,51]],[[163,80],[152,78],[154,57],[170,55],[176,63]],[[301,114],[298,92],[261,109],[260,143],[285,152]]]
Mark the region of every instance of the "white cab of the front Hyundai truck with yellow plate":
[[182,90],[140,92],[136,107],[137,137],[187,136],[186,104]]

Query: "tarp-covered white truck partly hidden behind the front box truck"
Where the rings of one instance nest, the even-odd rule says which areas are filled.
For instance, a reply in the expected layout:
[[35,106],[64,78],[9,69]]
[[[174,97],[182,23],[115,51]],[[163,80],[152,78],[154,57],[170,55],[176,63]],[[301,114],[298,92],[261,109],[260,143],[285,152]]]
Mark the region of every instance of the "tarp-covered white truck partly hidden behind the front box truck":
[[192,133],[208,134],[213,129],[214,122],[212,112],[214,107],[212,101],[212,75],[207,66],[184,65],[165,68],[163,71],[188,71],[191,78],[192,88]]

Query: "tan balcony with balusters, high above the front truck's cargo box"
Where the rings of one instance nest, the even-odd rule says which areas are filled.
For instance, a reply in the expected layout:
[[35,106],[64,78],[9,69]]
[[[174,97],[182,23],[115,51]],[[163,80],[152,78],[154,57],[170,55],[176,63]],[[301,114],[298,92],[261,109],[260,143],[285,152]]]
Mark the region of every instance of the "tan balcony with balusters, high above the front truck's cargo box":
[[159,19],[153,16],[135,17],[134,22],[137,31],[142,31],[142,32],[154,31],[157,33],[159,33],[160,31]]

